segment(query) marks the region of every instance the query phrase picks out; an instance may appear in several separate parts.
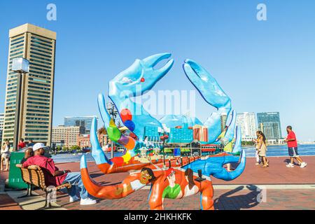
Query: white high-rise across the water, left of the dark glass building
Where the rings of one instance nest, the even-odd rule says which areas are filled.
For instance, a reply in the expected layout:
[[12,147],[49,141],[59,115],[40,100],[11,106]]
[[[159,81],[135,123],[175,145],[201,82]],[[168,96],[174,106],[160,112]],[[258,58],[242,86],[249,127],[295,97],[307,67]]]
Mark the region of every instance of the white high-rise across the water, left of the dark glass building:
[[237,126],[241,128],[241,140],[251,141],[256,138],[255,113],[237,113]]

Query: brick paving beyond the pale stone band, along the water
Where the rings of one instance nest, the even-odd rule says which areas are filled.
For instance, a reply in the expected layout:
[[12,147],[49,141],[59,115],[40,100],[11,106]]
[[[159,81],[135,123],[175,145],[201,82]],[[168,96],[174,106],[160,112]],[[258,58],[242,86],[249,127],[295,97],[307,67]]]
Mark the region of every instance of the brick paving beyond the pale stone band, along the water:
[[[307,167],[294,168],[286,167],[287,158],[269,158],[269,167],[261,168],[255,165],[254,158],[247,158],[246,168],[237,179],[233,181],[222,181],[211,176],[214,184],[315,184],[315,156],[303,158],[307,162]],[[80,170],[80,164],[64,163],[58,165],[59,169],[70,169],[73,172]],[[88,169],[92,178],[101,183],[117,183],[125,179],[128,173],[104,175],[94,165],[94,162],[88,163]]]

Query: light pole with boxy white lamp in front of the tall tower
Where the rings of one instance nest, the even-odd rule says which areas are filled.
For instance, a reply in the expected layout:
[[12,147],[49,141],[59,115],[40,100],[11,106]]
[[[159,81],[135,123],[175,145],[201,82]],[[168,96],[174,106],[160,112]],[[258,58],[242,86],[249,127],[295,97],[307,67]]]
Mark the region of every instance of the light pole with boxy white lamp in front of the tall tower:
[[15,124],[13,135],[13,150],[17,151],[20,137],[20,112],[21,112],[21,94],[22,94],[22,75],[29,73],[29,61],[23,57],[17,57],[12,60],[12,71],[18,73],[16,86],[15,103]]

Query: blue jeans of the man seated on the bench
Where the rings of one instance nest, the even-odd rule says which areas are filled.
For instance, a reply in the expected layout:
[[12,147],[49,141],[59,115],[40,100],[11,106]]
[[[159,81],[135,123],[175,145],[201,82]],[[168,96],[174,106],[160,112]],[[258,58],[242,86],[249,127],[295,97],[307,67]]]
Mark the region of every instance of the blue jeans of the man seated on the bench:
[[66,179],[64,179],[64,183],[71,184],[71,188],[69,189],[69,195],[71,197],[76,196],[78,190],[80,190],[80,197],[82,199],[90,197],[89,193],[87,193],[87,190],[83,185],[80,172],[70,172],[66,174]]

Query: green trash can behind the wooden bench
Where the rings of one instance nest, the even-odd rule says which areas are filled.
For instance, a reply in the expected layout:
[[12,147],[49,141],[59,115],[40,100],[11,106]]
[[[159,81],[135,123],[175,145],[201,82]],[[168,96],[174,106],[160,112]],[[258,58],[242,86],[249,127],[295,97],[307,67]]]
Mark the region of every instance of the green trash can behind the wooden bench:
[[21,163],[22,158],[24,158],[24,152],[12,152],[10,154],[8,188],[27,188],[27,184],[22,180],[20,168],[15,166]]

